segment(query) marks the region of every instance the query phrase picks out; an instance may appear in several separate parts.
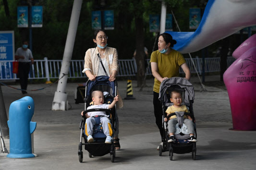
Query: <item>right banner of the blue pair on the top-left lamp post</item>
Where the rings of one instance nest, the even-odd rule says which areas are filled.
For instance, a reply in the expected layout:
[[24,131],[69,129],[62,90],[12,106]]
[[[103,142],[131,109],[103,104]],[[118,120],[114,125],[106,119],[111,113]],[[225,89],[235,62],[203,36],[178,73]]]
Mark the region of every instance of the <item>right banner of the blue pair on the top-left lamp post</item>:
[[32,12],[31,27],[43,27],[43,7],[32,6],[31,12]]

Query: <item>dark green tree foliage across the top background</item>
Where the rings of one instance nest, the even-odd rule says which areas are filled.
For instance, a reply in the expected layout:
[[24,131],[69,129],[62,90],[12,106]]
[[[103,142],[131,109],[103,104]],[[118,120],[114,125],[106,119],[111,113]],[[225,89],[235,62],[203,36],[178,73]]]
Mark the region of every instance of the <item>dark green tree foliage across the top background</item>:
[[[31,0],[29,0],[31,1]],[[105,5],[100,3],[105,1]],[[182,31],[189,29],[189,8],[203,7],[207,0],[164,0],[167,13],[174,12]],[[14,30],[15,50],[21,46],[22,34],[29,35],[28,28],[17,28],[17,6],[21,0],[8,0],[10,17],[5,15],[3,1],[0,0],[0,30]],[[43,6],[43,27],[33,28],[33,55],[35,59],[48,57],[49,60],[62,59],[68,27],[73,8],[73,0],[37,0],[35,5]],[[114,10],[115,29],[107,30],[109,47],[118,50],[119,59],[131,59],[135,50],[135,22],[134,16],[143,18],[144,44],[149,56],[153,50],[155,33],[149,32],[149,14],[161,13],[159,0],[84,0],[82,3],[79,24],[73,47],[72,59],[83,60],[85,52],[95,47],[91,28],[91,12],[97,10]],[[173,21],[174,31],[178,31]],[[27,37],[27,39],[29,39]],[[216,50],[218,43],[209,47],[209,51]],[[194,55],[201,55],[195,52]],[[185,55],[186,56],[186,55]]]

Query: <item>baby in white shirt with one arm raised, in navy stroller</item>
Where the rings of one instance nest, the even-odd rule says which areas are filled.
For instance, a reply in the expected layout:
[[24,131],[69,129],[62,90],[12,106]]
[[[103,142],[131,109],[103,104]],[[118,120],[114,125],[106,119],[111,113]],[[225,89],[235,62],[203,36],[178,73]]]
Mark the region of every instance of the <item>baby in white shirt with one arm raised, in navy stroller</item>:
[[[104,104],[103,92],[96,90],[92,92],[92,100],[94,104],[89,106],[87,109],[112,109],[118,101],[118,95],[114,97],[114,100],[111,104]],[[84,111],[81,112],[82,116],[83,113]],[[108,115],[106,115],[105,111],[93,111],[85,114],[85,117],[87,118],[85,122],[85,134],[87,135],[87,142],[91,143],[94,141],[92,134],[93,126],[96,124],[95,116],[100,116],[100,123],[102,123],[103,132],[107,136],[105,143],[111,144],[111,136],[113,132]]]

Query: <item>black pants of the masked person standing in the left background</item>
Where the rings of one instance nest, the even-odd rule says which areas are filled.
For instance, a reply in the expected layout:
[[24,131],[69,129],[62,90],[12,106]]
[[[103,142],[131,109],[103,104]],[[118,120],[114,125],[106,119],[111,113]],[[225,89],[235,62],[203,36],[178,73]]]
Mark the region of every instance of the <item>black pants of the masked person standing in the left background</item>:
[[19,77],[20,77],[20,84],[21,89],[27,89],[27,81],[28,81],[28,73],[30,70],[30,62],[19,62]]

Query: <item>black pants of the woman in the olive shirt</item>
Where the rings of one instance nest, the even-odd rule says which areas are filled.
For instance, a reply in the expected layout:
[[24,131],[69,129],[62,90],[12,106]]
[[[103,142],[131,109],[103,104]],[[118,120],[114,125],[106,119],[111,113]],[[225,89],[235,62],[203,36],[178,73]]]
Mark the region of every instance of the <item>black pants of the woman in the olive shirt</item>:
[[[168,98],[170,98],[170,95],[169,94],[167,95],[168,95]],[[164,136],[164,128],[163,128],[163,120],[162,120],[163,112],[162,112],[162,104],[158,99],[158,97],[159,97],[159,93],[153,92],[153,104],[154,104],[154,113],[156,117],[156,124],[158,126],[161,139],[163,139],[163,136]]]

